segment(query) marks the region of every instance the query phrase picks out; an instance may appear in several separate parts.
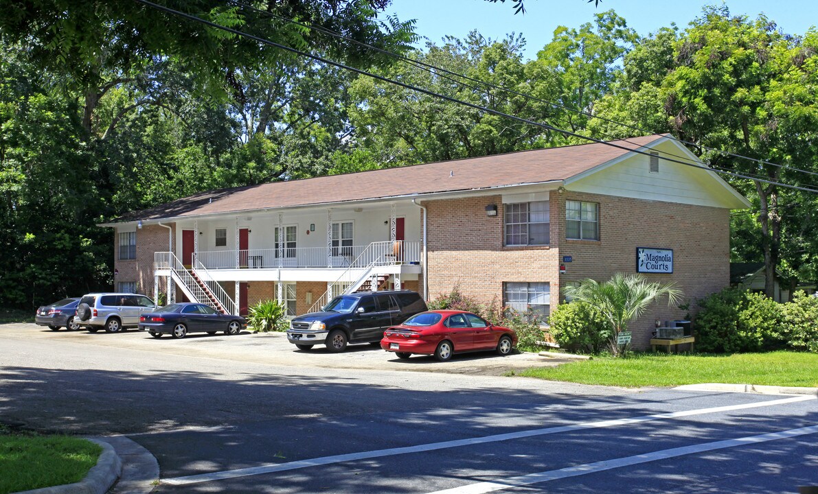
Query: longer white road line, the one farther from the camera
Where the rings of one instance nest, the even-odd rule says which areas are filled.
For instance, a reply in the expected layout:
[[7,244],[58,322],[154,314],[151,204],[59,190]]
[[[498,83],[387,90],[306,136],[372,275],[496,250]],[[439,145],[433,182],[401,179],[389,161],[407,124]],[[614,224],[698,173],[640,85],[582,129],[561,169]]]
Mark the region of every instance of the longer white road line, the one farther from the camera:
[[600,427],[613,427],[615,425],[630,425],[638,424],[640,422],[661,421],[664,419],[674,419],[683,416],[703,415],[706,413],[731,412],[734,410],[746,410],[749,408],[772,407],[775,405],[798,403],[816,398],[818,397],[811,395],[802,395],[795,396],[793,398],[774,399],[759,403],[744,403],[741,405],[728,405],[726,407],[699,408],[696,410],[685,410],[684,412],[658,413],[655,415],[636,416],[627,419],[617,419],[613,421],[584,422],[582,424],[563,425],[560,427],[548,427],[546,429],[521,430],[519,432],[510,432],[508,434],[493,434],[490,436],[483,436],[482,438],[465,438],[457,439],[455,441],[418,444],[417,446],[407,447],[390,447],[389,449],[379,449],[369,452],[348,453],[345,455],[322,456],[320,458],[312,458],[310,460],[300,461],[289,461],[287,463],[271,463],[267,465],[258,465],[243,469],[213,472],[210,474],[196,474],[187,475],[185,477],[164,478],[162,479],[161,482],[172,485],[187,485],[190,483],[211,482],[213,480],[223,480],[225,478],[238,478],[246,477],[249,475],[272,474],[274,472],[283,472],[285,470],[297,470],[302,468],[308,468],[311,466],[331,465],[334,463],[341,463],[343,461],[368,460],[370,458],[380,458],[382,456],[394,456],[404,455],[407,453],[427,452],[438,449],[446,449],[449,447],[461,447],[472,446],[474,444],[496,443],[498,441],[507,441],[509,439],[530,438],[533,436],[558,434],[562,432],[570,432],[573,430],[596,429]]

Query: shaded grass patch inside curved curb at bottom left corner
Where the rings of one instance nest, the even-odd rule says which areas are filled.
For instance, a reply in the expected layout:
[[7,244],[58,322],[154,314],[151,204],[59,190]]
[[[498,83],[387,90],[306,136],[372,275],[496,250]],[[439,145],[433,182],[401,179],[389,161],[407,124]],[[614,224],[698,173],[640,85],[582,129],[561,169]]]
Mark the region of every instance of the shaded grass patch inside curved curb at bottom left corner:
[[83,438],[18,434],[0,425],[0,494],[79,482],[101,452]]

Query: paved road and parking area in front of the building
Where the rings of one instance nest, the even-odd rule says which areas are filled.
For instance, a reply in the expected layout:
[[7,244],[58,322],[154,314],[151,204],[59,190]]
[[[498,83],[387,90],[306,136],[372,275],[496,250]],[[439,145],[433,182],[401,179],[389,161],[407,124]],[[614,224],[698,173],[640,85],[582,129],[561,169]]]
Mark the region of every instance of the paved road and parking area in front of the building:
[[[531,355],[399,362],[281,336],[0,326],[0,420],[125,434],[156,492],[798,492],[818,402],[501,376]],[[409,372],[407,372],[407,369]],[[416,372],[424,371],[424,372]],[[446,373],[441,371],[447,371]]]

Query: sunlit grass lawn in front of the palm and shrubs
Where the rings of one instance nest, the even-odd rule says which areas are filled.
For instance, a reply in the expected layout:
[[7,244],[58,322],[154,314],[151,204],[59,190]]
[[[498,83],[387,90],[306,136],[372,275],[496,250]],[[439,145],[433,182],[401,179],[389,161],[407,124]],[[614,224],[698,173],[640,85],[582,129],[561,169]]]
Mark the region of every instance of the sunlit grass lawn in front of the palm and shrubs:
[[711,382],[814,387],[818,386],[818,354],[631,354],[534,367],[515,376],[628,388]]

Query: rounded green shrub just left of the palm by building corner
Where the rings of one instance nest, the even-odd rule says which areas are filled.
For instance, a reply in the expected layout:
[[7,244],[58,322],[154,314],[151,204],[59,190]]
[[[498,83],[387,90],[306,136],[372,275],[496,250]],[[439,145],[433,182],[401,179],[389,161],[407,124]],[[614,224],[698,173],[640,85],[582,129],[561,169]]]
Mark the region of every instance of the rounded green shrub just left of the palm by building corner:
[[574,301],[557,305],[548,318],[551,336],[563,348],[598,354],[608,345],[610,326],[587,304]]

